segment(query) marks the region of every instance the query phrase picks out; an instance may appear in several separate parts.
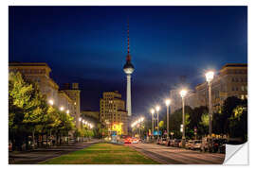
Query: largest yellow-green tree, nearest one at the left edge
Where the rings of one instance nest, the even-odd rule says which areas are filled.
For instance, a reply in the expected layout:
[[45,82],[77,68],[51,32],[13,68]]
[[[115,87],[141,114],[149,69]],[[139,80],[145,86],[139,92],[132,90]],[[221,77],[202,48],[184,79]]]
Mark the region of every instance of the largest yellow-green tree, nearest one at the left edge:
[[[23,76],[9,73],[9,135],[13,149],[28,145],[28,134],[41,123],[46,104],[36,84],[28,83]],[[19,135],[16,135],[19,134]]]

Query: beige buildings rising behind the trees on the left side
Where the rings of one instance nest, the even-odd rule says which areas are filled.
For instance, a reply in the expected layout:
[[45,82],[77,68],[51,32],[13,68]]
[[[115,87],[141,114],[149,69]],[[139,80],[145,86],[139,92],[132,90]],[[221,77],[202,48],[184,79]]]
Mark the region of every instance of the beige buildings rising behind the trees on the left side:
[[70,90],[59,91],[59,86],[49,76],[51,69],[45,62],[9,62],[9,72],[20,72],[26,79],[37,82],[40,92],[46,99],[52,100],[54,106],[69,111],[74,117],[76,127],[80,127],[80,90],[78,83],[73,83]]

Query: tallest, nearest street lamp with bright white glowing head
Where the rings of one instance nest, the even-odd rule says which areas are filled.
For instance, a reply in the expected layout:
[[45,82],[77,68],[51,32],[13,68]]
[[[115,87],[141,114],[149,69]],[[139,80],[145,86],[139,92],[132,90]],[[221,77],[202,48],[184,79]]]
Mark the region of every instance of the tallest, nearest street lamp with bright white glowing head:
[[206,73],[206,80],[208,82],[208,89],[209,89],[209,135],[210,135],[210,142],[211,142],[211,131],[212,131],[212,110],[211,110],[211,82],[214,77],[214,72],[210,71]]

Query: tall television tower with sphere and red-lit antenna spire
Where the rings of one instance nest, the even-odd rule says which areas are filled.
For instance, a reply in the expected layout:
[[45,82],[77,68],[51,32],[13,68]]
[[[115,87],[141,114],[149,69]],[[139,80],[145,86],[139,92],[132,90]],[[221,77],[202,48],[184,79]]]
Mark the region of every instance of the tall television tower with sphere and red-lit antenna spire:
[[127,41],[128,41],[128,53],[126,56],[126,63],[123,66],[123,71],[126,74],[127,77],[127,86],[126,86],[126,110],[128,111],[128,116],[132,116],[132,101],[131,101],[131,76],[135,70],[134,65],[131,62],[131,56],[130,56],[130,40],[129,40],[129,23],[128,23],[128,29],[127,29]]

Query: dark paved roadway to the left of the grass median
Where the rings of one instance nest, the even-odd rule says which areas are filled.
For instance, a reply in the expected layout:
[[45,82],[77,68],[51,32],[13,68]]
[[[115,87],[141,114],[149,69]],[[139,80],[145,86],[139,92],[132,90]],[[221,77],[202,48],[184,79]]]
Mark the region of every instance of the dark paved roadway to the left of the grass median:
[[37,164],[100,142],[100,140],[92,140],[90,142],[66,144],[50,148],[38,148],[27,152],[9,152],[9,164]]

